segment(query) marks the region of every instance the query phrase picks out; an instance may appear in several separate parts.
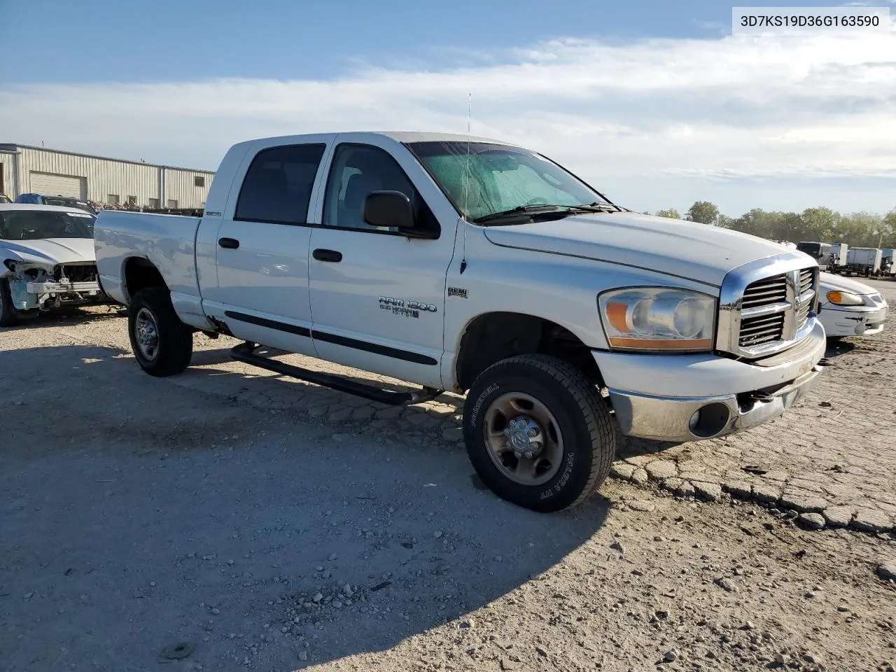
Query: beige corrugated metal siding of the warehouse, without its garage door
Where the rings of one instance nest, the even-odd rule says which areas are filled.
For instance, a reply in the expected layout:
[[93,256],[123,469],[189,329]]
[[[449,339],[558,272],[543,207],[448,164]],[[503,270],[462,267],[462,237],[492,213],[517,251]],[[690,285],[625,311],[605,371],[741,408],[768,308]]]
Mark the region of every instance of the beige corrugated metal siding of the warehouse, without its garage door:
[[[137,205],[178,208],[201,208],[209,194],[214,173],[183,168],[164,168],[144,163],[131,163],[116,159],[68,154],[62,151],[18,147],[21,155],[19,166],[19,190],[13,184],[14,155],[0,153],[4,162],[4,193],[11,198],[31,191],[31,173],[43,173],[61,177],[86,178],[90,201],[107,203],[117,197],[117,202],[127,202],[134,197]],[[202,186],[196,186],[196,177],[202,177]]]

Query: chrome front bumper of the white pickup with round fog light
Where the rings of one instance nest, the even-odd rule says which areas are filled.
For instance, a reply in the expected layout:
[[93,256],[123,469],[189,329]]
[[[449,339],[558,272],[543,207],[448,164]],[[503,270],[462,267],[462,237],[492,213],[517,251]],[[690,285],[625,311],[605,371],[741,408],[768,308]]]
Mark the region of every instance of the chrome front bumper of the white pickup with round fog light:
[[[662,441],[701,441],[743,432],[778,418],[814,389],[821,371],[821,366],[814,365],[806,374],[775,392],[757,394],[754,398],[747,394],[702,398],[654,397],[613,389],[609,390],[609,394],[623,434]],[[738,396],[741,401],[738,401]],[[721,417],[721,407],[728,409],[727,419]],[[719,431],[709,435],[705,432],[702,435],[694,434],[691,419],[702,409],[712,409],[719,420]]]

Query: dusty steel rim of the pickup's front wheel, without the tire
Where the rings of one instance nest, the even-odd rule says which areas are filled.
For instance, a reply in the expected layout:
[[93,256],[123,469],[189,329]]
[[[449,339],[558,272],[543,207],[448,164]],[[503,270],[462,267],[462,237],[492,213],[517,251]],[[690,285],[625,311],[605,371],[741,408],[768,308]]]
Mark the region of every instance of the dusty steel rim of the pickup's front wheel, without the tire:
[[[522,428],[521,421],[525,422]],[[512,422],[517,428],[511,427]],[[535,435],[532,429],[536,429]],[[564,452],[560,426],[547,406],[530,394],[506,392],[492,401],[486,410],[483,433],[488,456],[514,483],[543,486],[560,469]],[[538,452],[527,457],[525,449],[536,442],[540,445]]]

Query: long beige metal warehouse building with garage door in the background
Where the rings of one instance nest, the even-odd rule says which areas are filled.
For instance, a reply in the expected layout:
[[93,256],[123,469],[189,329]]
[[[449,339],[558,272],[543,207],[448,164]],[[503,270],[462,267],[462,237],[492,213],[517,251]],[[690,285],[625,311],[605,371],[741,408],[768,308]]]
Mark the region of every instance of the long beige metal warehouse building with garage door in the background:
[[0,192],[73,196],[148,208],[202,208],[214,172],[0,144]]

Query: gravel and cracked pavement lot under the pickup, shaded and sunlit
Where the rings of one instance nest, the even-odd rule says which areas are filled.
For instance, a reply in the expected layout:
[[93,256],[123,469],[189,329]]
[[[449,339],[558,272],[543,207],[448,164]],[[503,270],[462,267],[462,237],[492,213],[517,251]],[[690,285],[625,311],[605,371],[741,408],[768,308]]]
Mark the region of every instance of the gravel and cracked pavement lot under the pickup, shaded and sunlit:
[[0,330],[0,669],[892,669],[888,326],[787,417],[628,444],[556,515],[481,489],[451,396],[388,409],[203,337],[152,379],[105,309]]

